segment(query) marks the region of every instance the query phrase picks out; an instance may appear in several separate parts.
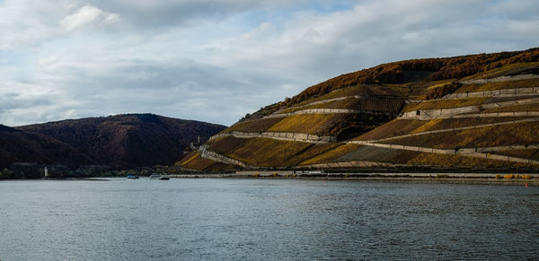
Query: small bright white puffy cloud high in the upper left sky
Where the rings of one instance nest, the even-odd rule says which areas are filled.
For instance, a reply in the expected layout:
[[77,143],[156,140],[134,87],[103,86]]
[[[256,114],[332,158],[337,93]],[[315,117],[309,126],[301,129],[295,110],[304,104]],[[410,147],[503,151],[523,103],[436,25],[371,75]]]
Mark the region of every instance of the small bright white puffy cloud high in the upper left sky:
[[65,30],[75,30],[90,27],[95,24],[112,24],[119,22],[118,13],[107,13],[91,4],[77,9],[75,13],[67,15],[60,24]]

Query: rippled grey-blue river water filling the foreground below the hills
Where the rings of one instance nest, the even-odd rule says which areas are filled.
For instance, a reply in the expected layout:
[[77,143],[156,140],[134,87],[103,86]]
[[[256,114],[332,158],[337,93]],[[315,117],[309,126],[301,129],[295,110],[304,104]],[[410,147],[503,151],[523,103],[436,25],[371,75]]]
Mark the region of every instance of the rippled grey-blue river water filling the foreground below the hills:
[[0,182],[0,260],[528,259],[539,187],[285,179]]

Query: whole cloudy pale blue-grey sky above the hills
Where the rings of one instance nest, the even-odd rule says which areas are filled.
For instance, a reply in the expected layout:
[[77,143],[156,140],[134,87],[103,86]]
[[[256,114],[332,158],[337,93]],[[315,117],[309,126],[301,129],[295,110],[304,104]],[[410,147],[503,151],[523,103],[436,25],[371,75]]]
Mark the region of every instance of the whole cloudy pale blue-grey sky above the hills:
[[155,113],[230,126],[327,79],[539,47],[539,1],[0,0],[0,124]]

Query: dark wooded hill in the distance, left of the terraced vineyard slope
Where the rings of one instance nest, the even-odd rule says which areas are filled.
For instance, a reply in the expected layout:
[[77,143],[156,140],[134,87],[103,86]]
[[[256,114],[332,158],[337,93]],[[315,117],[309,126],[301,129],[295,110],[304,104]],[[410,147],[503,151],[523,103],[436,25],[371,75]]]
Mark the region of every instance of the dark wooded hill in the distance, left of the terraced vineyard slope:
[[[206,141],[225,129],[194,120],[154,114],[68,119],[45,124],[3,127],[1,153],[15,161],[108,165],[114,169],[171,165],[190,143]],[[4,135],[8,134],[8,135]],[[24,156],[27,155],[28,157]]]

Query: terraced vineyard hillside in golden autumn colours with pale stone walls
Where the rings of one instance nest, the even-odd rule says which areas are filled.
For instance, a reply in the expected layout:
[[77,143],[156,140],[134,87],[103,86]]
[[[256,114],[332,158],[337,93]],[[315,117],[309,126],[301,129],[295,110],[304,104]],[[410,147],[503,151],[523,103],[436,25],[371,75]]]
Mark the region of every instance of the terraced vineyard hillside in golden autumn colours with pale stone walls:
[[342,74],[247,114],[192,170],[537,170],[539,48]]

